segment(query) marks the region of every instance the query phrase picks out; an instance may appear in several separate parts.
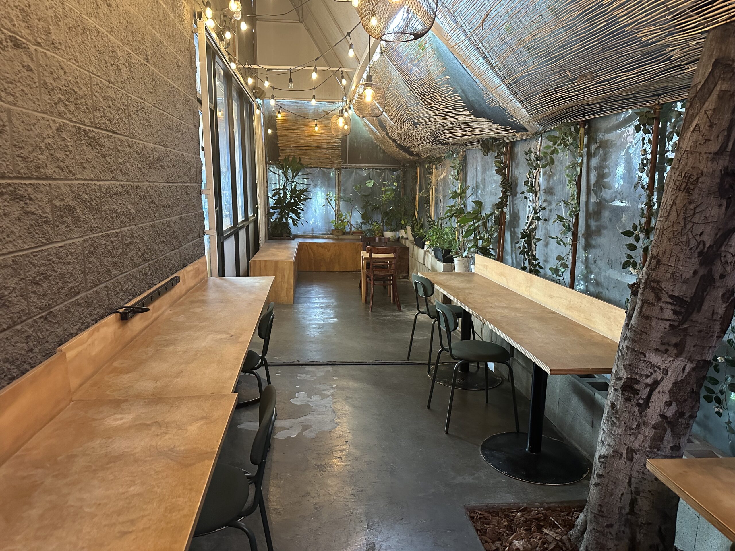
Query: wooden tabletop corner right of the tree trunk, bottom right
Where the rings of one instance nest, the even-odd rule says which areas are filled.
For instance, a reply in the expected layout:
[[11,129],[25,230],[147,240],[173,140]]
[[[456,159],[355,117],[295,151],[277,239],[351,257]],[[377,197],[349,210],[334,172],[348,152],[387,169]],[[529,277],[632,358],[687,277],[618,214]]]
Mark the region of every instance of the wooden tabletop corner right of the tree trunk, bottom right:
[[735,458],[649,459],[646,467],[735,541]]

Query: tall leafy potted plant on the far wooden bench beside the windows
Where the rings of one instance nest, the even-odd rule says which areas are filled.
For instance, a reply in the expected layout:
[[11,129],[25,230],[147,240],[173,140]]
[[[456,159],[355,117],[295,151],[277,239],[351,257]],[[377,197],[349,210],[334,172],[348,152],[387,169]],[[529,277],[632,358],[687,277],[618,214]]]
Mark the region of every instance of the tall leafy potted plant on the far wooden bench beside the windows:
[[291,226],[301,223],[304,204],[309,201],[309,188],[305,182],[309,177],[302,174],[306,165],[301,162],[301,157],[291,156],[274,166],[276,170],[271,168],[270,171],[278,180],[270,195],[268,209],[270,238],[293,240]]

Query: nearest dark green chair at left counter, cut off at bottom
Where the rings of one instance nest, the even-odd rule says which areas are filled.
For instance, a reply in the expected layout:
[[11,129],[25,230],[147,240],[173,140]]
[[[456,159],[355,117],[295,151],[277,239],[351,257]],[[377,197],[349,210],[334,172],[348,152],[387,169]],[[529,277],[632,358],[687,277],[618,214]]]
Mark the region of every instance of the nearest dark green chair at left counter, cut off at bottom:
[[[245,526],[243,519],[259,508],[265,542],[268,545],[268,551],[273,551],[273,541],[270,539],[268,514],[265,511],[262,491],[265,461],[268,459],[270,439],[276,424],[276,387],[273,385],[268,385],[263,389],[258,419],[258,431],[255,433],[250,450],[250,462],[257,466],[255,474],[224,463],[215,465],[207,495],[201,505],[201,514],[194,528],[194,537],[218,532],[226,527],[237,528],[248,536],[251,551],[257,551],[255,536]],[[251,494],[253,500],[248,505]]]

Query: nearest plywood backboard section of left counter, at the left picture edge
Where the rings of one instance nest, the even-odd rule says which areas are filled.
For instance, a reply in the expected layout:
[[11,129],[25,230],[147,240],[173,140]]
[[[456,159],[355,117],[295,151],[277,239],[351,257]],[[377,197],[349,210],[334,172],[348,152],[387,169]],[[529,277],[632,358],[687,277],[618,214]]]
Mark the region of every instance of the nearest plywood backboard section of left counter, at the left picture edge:
[[0,465],[70,403],[62,352],[0,390]]

